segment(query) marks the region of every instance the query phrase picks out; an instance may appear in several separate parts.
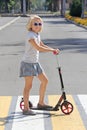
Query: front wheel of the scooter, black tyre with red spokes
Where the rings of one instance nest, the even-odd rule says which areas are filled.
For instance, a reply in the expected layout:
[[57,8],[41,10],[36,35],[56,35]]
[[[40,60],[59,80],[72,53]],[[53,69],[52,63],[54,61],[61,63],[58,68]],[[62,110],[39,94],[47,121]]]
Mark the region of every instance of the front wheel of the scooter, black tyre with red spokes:
[[70,114],[72,111],[73,111],[73,105],[68,102],[68,101],[64,101],[62,104],[61,104],[61,111],[68,115]]

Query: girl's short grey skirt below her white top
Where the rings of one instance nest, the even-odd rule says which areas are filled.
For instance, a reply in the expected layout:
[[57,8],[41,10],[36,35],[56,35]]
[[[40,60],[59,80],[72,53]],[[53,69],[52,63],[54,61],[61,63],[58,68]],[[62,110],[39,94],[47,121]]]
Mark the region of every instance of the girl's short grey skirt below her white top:
[[41,73],[43,73],[43,69],[40,63],[26,63],[22,61],[20,64],[20,77],[38,76]]

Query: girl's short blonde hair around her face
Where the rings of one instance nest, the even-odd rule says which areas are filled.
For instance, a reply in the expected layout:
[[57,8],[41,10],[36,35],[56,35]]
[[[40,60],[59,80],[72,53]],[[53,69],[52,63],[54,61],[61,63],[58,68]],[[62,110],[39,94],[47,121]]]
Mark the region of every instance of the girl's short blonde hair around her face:
[[[26,25],[26,28],[27,28],[28,31],[32,31],[32,21],[34,19],[39,19],[41,22],[43,22],[42,18],[39,17],[38,15],[32,15],[32,16],[30,16],[29,21],[28,21],[28,23]],[[42,30],[42,28],[41,28],[41,30]]]

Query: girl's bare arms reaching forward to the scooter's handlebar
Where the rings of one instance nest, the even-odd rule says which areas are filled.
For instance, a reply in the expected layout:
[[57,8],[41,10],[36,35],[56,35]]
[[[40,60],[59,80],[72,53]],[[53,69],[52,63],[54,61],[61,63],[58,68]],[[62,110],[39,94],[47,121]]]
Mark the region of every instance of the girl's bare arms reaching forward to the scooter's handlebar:
[[29,42],[38,51],[41,51],[41,52],[54,52],[54,51],[56,51],[57,53],[59,53],[58,49],[53,49],[51,47],[48,47],[48,46],[44,45],[42,42],[40,43],[40,45],[38,45],[36,43],[35,39],[30,39]]

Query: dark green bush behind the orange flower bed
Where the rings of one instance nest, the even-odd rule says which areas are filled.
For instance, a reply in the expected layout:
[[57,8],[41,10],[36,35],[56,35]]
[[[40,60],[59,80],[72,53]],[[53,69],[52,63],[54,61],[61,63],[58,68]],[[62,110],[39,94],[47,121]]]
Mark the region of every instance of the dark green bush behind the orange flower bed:
[[81,17],[81,12],[82,12],[82,0],[73,0],[70,8],[70,15],[71,16],[76,16],[76,17]]

